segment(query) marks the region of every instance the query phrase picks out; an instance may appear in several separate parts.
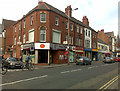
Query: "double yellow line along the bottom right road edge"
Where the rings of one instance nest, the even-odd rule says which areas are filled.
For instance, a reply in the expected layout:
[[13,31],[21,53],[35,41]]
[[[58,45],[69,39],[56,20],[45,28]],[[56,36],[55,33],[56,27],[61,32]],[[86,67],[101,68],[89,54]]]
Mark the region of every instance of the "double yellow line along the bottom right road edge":
[[116,80],[118,80],[119,75],[114,77],[112,80],[110,80],[109,82],[107,82],[106,84],[104,84],[102,87],[100,87],[98,89],[98,91],[104,91],[106,90],[108,87],[110,87]]

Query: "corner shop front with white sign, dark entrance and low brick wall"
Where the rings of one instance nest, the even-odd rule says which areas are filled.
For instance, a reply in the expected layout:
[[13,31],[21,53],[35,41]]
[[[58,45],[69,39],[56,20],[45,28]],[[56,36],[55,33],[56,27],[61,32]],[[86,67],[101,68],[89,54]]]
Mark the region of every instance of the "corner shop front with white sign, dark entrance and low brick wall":
[[[68,62],[67,45],[53,43],[35,43],[35,63],[61,64]],[[74,62],[75,52],[70,46],[69,62]]]

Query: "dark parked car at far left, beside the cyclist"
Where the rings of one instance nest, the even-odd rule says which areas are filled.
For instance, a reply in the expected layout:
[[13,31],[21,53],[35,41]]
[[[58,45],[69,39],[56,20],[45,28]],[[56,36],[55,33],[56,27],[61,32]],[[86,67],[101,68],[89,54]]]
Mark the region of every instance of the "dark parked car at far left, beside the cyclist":
[[5,60],[5,64],[9,66],[9,68],[16,68],[16,67],[22,67],[23,63],[17,60],[16,58],[7,58]]

